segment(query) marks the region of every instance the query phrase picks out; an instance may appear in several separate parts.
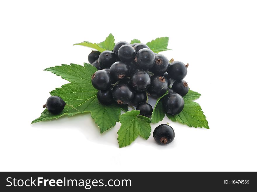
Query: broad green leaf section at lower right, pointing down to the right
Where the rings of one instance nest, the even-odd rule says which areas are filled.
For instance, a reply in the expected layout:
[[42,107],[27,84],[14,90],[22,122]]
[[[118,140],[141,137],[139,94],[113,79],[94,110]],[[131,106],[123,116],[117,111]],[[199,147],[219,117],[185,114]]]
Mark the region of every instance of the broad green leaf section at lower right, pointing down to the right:
[[174,116],[167,113],[166,115],[174,122],[178,121],[190,127],[204,127],[209,129],[208,121],[203,113],[204,112],[198,103],[185,100],[185,106],[182,112]]

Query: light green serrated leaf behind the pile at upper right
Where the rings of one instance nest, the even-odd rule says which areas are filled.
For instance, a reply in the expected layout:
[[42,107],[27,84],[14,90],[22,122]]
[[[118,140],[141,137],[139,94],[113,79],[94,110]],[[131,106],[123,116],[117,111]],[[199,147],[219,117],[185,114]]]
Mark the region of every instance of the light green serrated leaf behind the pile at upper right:
[[152,40],[151,42],[146,43],[150,49],[155,52],[159,53],[161,51],[167,51],[167,50],[172,50],[168,49],[168,43],[169,43],[169,37],[159,37],[156,38],[155,40]]

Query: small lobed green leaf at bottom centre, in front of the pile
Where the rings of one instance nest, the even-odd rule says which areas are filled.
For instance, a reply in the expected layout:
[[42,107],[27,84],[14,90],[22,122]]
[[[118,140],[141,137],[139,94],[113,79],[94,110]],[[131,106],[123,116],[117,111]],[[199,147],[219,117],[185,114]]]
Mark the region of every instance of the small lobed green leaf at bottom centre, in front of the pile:
[[145,139],[149,138],[151,120],[139,114],[140,111],[131,110],[119,116],[121,123],[121,127],[117,132],[119,147],[130,145],[138,135]]

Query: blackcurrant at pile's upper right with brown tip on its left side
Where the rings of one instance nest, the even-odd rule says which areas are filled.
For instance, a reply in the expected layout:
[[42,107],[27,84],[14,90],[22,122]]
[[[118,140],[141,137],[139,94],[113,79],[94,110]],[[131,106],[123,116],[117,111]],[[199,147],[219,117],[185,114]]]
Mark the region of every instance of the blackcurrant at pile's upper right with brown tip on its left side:
[[151,71],[154,74],[162,75],[168,70],[169,65],[169,60],[164,55],[156,55],[156,60]]

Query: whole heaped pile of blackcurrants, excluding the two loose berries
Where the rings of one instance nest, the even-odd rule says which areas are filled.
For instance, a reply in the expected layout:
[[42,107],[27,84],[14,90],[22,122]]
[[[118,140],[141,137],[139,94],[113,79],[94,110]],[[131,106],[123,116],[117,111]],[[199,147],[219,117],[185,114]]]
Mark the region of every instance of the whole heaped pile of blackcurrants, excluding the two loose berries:
[[[164,55],[154,53],[147,45],[126,41],[118,42],[113,51],[92,51],[88,61],[98,69],[92,75],[92,85],[99,90],[97,98],[101,103],[134,105],[140,115],[150,117],[153,109],[146,103],[146,94],[159,97],[169,89],[162,99],[164,110],[171,115],[183,110],[182,96],[189,90],[183,80],[188,64],[170,64]],[[175,82],[169,88],[172,80]]]

